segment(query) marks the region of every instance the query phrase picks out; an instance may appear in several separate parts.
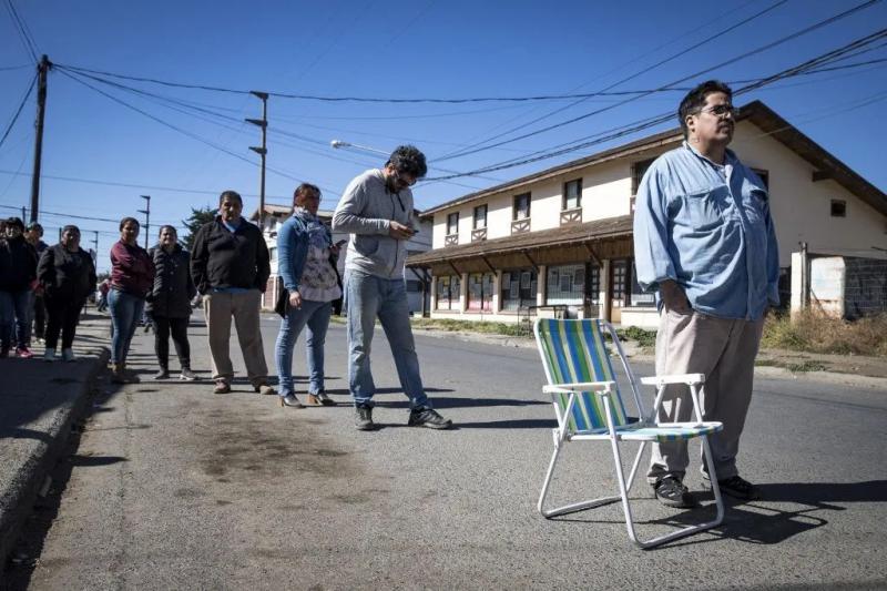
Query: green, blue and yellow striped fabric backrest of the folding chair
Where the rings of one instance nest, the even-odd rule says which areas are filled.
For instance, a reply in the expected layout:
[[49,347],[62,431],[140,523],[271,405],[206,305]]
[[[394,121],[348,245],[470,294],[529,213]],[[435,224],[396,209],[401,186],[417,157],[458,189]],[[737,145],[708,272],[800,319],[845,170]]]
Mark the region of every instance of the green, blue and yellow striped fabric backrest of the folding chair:
[[[539,353],[550,385],[615,380],[610,355],[604,345],[601,320],[559,320],[540,318],[536,330]],[[568,394],[554,394],[561,411],[567,408]],[[625,425],[625,407],[616,386],[610,397],[616,427]],[[570,432],[605,429],[603,401],[593,393],[577,396],[570,414]]]

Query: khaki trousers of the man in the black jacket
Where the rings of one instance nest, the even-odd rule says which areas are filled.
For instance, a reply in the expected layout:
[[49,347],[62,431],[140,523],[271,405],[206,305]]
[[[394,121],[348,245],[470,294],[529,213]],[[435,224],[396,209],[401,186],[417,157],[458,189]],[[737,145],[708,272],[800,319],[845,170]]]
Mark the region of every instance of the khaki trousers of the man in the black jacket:
[[231,364],[231,318],[237,328],[246,376],[253,386],[267,384],[268,366],[262,346],[258,310],[262,294],[258,289],[242,293],[214,293],[203,296],[203,312],[210,334],[210,357],[213,379],[231,381],[234,366]]

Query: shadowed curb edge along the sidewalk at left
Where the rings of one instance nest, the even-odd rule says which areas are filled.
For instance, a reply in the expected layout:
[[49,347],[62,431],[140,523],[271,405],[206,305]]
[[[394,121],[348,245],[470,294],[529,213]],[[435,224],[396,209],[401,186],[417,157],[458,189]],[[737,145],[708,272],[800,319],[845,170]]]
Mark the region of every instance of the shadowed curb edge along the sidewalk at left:
[[58,410],[52,426],[47,431],[49,442],[37,446],[33,452],[24,458],[19,467],[19,478],[13,480],[13,486],[3,491],[7,497],[4,510],[0,511],[0,572],[7,563],[9,553],[16,547],[22,527],[31,514],[40,488],[55,462],[71,434],[74,421],[82,416],[89,393],[95,384],[99,374],[108,365],[110,351],[106,347],[99,350],[99,356],[91,361],[92,367],[86,378],[78,384],[79,391],[65,408]]

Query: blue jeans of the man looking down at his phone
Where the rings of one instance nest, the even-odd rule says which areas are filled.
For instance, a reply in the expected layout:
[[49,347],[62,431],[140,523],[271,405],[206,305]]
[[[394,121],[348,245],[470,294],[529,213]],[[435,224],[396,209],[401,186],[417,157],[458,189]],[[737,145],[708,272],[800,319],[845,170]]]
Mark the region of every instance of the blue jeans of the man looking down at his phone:
[[430,408],[409,324],[406,282],[349,271],[345,275],[345,306],[348,310],[348,387],[355,406],[373,407],[376,385],[369,354],[378,317],[410,407]]

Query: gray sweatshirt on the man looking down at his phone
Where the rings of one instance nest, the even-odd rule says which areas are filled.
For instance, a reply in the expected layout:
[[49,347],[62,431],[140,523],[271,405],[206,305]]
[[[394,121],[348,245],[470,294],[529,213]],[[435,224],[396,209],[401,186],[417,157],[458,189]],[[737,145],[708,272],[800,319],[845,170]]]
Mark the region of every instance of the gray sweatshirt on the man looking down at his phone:
[[351,238],[345,257],[346,271],[384,279],[404,277],[407,241],[388,235],[391,220],[415,227],[409,188],[389,193],[385,175],[378,169],[366,171],[348,184],[333,214],[333,230],[348,232]]

